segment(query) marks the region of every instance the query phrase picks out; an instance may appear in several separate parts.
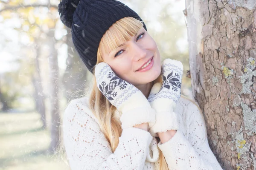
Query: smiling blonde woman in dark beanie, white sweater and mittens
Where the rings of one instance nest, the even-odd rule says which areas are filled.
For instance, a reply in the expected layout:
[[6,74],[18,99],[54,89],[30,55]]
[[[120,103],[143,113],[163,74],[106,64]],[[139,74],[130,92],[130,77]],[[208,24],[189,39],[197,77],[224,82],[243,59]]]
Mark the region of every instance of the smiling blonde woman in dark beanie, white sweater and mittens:
[[183,65],[160,64],[133,10],[116,0],[62,0],[59,12],[93,73],[89,96],[64,112],[72,170],[221,170],[200,109],[180,97]]

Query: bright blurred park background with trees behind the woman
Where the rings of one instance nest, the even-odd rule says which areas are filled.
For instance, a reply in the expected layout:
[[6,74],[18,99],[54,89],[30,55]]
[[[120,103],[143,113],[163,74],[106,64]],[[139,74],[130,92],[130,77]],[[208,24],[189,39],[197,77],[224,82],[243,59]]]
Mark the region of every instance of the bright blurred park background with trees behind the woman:
[[[183,63],[182,94],[191,98],[184,0],[121,1],[144,20],[161,57]],[[60,21],[58,3],[0,1],[0,170],[69,170],[56,149],[61,116],[92,75]]]

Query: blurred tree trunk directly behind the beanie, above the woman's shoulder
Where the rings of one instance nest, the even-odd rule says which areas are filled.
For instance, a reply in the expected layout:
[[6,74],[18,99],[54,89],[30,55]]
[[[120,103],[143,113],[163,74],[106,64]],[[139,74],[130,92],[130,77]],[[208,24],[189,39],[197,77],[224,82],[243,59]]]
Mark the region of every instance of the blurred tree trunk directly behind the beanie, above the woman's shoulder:
[[84,94],[85,85],[87,84],[87,68],[74,47],[71,37],[71,29],[69,28],[67,28],[67,54],[67,68],[63,75],[62,82],[65,88],[64,96],[68,101],[82,96]]

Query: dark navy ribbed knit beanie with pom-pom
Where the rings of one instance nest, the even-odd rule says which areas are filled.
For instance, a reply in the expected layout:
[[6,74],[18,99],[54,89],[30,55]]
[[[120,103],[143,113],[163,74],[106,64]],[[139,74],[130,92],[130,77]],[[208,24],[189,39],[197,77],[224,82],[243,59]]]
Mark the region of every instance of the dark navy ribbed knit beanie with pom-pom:
[[[124,17],[143,22],[136,12],[116,0],[61,0],[58,11],[64,25],[71,28],[74,46],[91,73],[99,42],[113,23]],[[143,27],[147,30],[144,22]]]

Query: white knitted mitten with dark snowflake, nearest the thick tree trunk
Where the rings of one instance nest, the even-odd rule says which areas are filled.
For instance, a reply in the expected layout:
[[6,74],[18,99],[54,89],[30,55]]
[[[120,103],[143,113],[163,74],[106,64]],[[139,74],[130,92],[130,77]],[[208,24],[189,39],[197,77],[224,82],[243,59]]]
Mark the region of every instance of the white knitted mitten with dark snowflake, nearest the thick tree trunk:
[[183,65],[180,61],[165,59],[161,70],[163,84],[154,84],[148,96],[151,108],[156,111],[155,124],[149,124],[152,136],[158,136],[158,132],[177,130],[179,127],[174,109],[180,98]]

